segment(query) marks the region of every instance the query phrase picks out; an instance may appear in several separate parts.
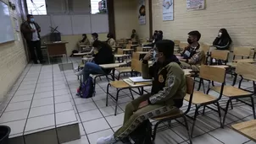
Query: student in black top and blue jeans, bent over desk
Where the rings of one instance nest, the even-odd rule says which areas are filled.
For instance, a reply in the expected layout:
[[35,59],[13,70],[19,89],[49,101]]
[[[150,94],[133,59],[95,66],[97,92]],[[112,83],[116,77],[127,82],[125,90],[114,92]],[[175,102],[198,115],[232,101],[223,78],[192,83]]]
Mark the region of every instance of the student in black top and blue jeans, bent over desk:
[[109,69],[103,69],[98,65],[114,63],[114,55],[112,54],[111,47],[107,43],[95,40],[92,46],[97,51],[93,54],[93,62],[86,62],[83,70],[75,72],[77,76],[83,75],[83,82],[86,82],[90,74],[104,74],[111,71]]

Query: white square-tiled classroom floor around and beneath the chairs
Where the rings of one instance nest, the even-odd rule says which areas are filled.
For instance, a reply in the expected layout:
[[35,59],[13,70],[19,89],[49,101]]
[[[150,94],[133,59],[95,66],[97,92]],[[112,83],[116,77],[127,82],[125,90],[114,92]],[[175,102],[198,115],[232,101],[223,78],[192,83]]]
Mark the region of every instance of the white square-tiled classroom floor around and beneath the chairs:
[[[75,63],[75,65],[77,65],[77,63]],[[58,124],[63,124],[70,120],[72,121],[72,119],[63,120],[61,118],[65,115],[73,115],[70,111],[74,109],[76,118],[80,123],[81,139],[66,142],[65,144],[96,144],[98,137],[109,136],[120,128],[123,123],[125,104],[131,101],[131,98],[128,97],[130,93],[129,91],[120,93],[124,98],[120,99],[118,115],[114,116],[113,101],[109,100],[108,107],[105,105],[106,86],[108,82],[104,77],[102,77],[102,80],[97,79],[95,97],[92,99],[81,99],[75,95],[76,88],[79,86],[79,81],[77,80],[74,72],[72,70],[68,70],[55,73],[54,71],[57,69],[58,65],[28,65],[28,67],[25,68],[25,72],[23,72],[17,82],[22,82],[23,84],[19,86],[17,84],[14,85],[14,89],[16,88],[18,91],[14,94],[14,98],[11,99],[11,103],[8,104],[6,114],[2,115],[0,123],[12,123],[8,125],[17,125],[14,133],[19,133],[20,131],[23,131],[23,129],[25,129],[25,131],[31,131],[31,129],[37,126],[35,123],[36,121],[47,121],[44,125],[38,125],[38,128],[40,128],[40,126],[54,125],[53,110],[58,112],[55,115],[57,117],[56,122]],[[30,77],[24,77],[26,72],[27,76]],[[38,76],[39,78],[36,79]],[[22,77],[24,77],[24,79]],[[227,78],[226,83],[231,84],[231,77]],[[247,88],[251,86],[251,83],[245,82],[242,83],[242,85]],[[14,92],[14,89],[8,93],[8,95],[11,95]],[[114,93],[114,89],[111,89],[111,91]],[[67,102],[69,102],[70,99],[71,104],[68,104]],[[221,100],[221,105],[224,106],[225,102],[226,99]],[[55,106],[54,108],[53,103]],[[28,115],[28,108],[30,105],[31,109]],[[238,104],[235,101],[234,106],[234,109],[230,109],[229,114],[226,117],[224,129],[220,128],[218,115],[214,111],[207,109],[205,115],[200,115],[194,130],[193,143],[253,144],[253,141],[249,141],[248,138],[231,130],[231,124],[245,120],[252,120],[252,109],[247,105]],[[186,109],[186,104],[184,104],[182,109]],[[194,108],[192,108],[192,110],[193,109]],[[39,112],[41,114],[39,114]],[[16,117],[20,118],[26,116],[29,117],[26,121],[29,126],[24,127],[25,120],[17,120]],[[12,119],[12,121],[6,123],[7,121],[10,121],[10,119]],[[192,125],[191,120],[189,120],[189,125]],[[173,121],[170,129],[159,129],[155,143],[186,144],[188,142],[185,128],[179,123]]]

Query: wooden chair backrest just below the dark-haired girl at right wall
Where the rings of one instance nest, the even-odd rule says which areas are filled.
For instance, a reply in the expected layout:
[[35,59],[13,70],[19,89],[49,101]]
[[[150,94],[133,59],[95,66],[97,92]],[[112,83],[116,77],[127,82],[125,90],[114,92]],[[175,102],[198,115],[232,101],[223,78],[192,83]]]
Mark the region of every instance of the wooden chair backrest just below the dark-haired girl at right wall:
[[228,60],[228,55],[229,55],[230,51],[220,51],[220,50],[214,50],[211,51],[211,61],[210,64],[212,65],[214,62],[213,60],[216,60],[217,65],[220,65],[222,63],[222,61],[224,61],[226,64],[227,60]]

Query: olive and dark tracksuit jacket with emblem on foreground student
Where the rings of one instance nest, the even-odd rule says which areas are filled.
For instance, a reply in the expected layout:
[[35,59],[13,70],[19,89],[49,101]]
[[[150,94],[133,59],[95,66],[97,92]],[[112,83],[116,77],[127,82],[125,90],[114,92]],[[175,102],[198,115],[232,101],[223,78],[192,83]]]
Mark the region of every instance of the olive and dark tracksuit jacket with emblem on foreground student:
[[142,77],[153,78],[149,104],[172,105],[181,108],[186,95],[186,78],[179,61],[155,62],[148,68],[147,61],[142,62]]

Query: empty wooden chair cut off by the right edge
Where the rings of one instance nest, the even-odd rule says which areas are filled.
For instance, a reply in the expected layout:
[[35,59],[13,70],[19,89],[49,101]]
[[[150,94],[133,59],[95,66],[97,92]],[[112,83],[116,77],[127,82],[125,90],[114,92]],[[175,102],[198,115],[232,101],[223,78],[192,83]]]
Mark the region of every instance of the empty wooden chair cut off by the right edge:
[[[253,101],[253,93],[243,90],[241,88],[241,83],[242,83],[243,79],[253,81],[253,85],[255,86],[255,83],[254,83],[256,81],[255,71],[256,71],[256,66],[253,64],[246,63],[246,62],[238,62],[237,63],[236,73],[237,73],[237,75],[239,75],[242,78],[239,82],[238,88],[233,87],[233,86],[225,86],[224,87],[223,96],[228,98],[228,101],[225,106],[225,115],[223,117],[223,125],[225,124],[225,116],[227,114],[229,104],[231,104],[231,109],[233,109],[233,105],[231,103],[232,99],[237,99],[237,101],[240,101],[243,104],[248,104],[247,102],[243,101],[242,99],[250,98],[251,104],[248,104],[248,105],[252,107],[253,118],[256,119],[255,108],[254,108],[255,106],[254,106],[254,101]],[[221,89],[220,87],[214,87],[212,89],[217,93],[222,93],[222,91],[220,90]]]

